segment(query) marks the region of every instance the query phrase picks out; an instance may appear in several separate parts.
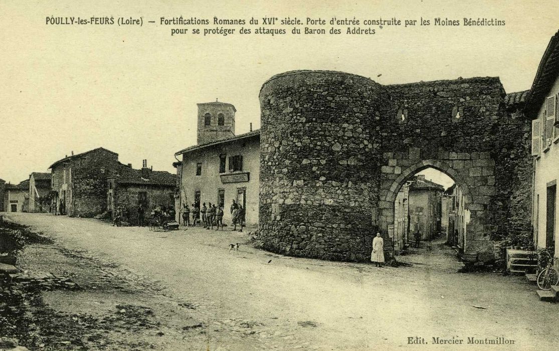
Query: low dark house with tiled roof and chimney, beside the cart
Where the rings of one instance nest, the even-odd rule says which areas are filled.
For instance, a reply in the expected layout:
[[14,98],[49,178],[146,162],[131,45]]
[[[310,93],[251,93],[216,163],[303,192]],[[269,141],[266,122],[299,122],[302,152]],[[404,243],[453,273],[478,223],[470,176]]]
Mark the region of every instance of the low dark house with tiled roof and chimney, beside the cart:
[[107,178],[107,210],[115,215],[115,208],[126,210],[127,220],[138,224],[138,208],[144,208],[147,218],[158,206],[174,206],[176,174],[153,170],[143,160],[141,169],[120,164]]

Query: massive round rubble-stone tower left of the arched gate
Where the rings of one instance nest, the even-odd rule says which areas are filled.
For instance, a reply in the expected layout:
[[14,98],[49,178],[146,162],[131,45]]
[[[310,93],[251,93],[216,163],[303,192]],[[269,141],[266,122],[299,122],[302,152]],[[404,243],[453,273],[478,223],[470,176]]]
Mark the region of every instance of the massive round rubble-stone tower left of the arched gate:
[[274,75],[259,98],[259,244],[302,257],[368,257],[385,88],[348,73],[295,71]]

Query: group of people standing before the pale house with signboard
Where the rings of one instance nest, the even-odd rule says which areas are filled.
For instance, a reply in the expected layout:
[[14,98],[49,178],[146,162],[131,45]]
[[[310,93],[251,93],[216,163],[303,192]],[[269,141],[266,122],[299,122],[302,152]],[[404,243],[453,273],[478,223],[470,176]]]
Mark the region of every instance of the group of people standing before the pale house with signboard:
[[[184,226],[196,226],[198,219],[202,221],[202,225],[206,230],[223,230],[223,204],[220,203],[216,206],[215,203],[208,202],[202,203],[202,207],[200,207],[200,203],[192,203],[192,208],[188,206],[188,203],[184,203],[181,212],[182,212],[182,222]],[[237,224],[240,225],[240,231],[243,231],[243,221],[244,221],[244,208],[243,206],[239,205],[238,203],[233,200],[231,204],[231,218],[233,219],[234,227],[232,230],[237,229]],[[192,215],[192,224],[190,221],[190,216]]]

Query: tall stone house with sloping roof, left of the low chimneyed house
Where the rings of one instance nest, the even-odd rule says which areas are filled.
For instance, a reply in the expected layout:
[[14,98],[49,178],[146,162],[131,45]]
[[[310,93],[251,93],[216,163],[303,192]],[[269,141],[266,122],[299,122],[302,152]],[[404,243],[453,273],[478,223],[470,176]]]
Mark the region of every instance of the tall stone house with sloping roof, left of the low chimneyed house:
[[107,177],[119,165],[119,154],[97,148],[53,163],[51,189],[58,214],[93,217],[107,210]]

